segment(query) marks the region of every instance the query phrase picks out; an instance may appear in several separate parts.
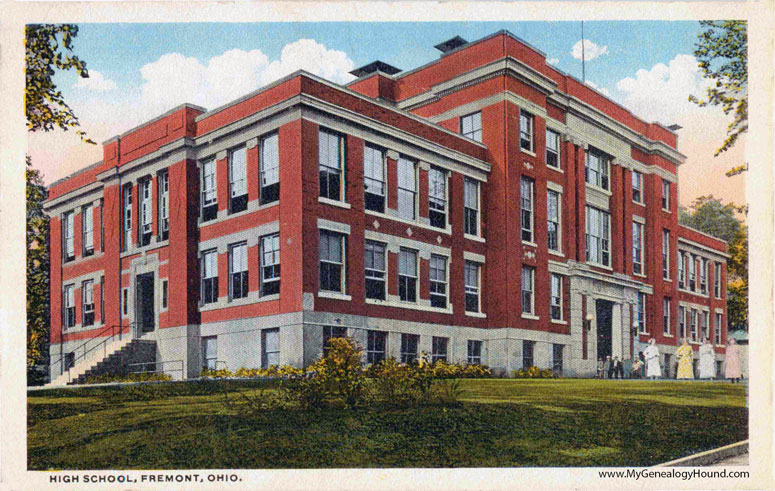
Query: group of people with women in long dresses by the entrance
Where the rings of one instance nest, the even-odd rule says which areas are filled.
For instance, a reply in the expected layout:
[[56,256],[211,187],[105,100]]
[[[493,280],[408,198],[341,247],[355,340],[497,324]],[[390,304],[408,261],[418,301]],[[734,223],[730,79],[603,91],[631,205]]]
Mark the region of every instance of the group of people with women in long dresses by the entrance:
[[[681,340],[681,346],[675,351],[678,357],[677,379],[694,378],[694,350],[686,339]],[[734,339],[729,340],[726,348],[726,367],[724,377],[732,383],[740,381],[740,347]],[[630,360],[619,360],[618,356],[600,358],[597,362],[597,378],[650,378],[662,377],[662,367],[659,363],[659,348],[654,339],[649,340],[649,346],[638,353],[638,357]],[[699,378],[712,379],[716,377],[716,354],[708,338],[703,340],[699,350]]]

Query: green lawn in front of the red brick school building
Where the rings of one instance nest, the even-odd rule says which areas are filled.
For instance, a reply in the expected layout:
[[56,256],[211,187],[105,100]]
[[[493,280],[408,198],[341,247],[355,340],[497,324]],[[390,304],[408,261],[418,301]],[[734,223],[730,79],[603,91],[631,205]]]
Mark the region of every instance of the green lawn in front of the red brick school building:
[[240,415],[260,382],[32,392],[44,469],[648,466],[748,437],[741,385],[463,380],[461,404]]

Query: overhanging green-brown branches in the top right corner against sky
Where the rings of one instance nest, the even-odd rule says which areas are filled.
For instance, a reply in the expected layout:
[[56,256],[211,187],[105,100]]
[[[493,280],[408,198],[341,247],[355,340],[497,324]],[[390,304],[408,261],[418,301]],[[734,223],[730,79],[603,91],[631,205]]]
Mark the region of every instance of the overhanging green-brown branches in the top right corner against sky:
[[[727,138],[715,156],[729,150],[748,131],[748,40],[747,23],[742,20],[700,21],[705,28],[698,35],[694,56],[704,78],[712,81],[705,98],[690,95],[699,105],[721,106],[724,114],[732,114],[727,126]],[[745,172],[747,164],[727,171],[728,176]]]

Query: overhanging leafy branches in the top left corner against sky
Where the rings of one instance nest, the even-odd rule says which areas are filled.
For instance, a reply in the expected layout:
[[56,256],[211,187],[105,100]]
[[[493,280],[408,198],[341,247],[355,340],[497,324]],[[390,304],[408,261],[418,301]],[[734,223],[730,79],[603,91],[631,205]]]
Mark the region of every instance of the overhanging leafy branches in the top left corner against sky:
[[[57,89],[53,76],[57,70],[75,70],[88,78],[86,62],[73,54],[73,39],[78,35],[75,24],[29,24],[25,27],[26,77],[24,100],[29,131],[51,131],[79,128],[80,122]],[[81,140],[94,145],[86,133],[77,130]]]

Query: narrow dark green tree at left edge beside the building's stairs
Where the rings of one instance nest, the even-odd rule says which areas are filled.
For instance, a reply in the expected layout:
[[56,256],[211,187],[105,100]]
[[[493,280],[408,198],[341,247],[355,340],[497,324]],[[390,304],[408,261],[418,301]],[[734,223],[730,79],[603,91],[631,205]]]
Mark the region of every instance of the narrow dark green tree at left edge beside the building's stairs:
[[43,212],[48,191],[40,171],[32,168],[27,157],[27,374],[28,383],[36,380],[32,368],[48,360],[49,340],[49,219]]

